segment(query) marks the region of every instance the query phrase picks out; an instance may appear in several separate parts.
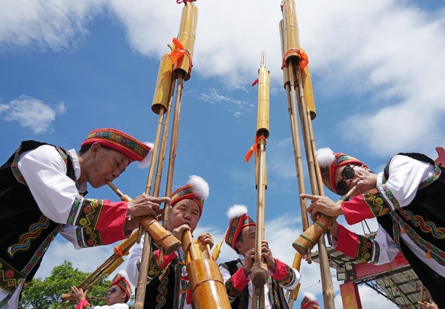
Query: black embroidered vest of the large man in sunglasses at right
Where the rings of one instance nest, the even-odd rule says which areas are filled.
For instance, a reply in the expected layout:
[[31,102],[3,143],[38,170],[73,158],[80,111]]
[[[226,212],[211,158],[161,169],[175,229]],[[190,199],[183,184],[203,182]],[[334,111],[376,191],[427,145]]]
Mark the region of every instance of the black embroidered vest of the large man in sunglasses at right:
[[[421,153],[399,153],[399,155],[435,165],[432,159]],[[401,233],[398,226],[401,228],[409,226],[421,237],[420,240],[417,240],[417,244],[425,244],[426,246],[432,244],[440,249],[442,253],[445,251],[445,168],[439,167],[439,169],[441,170],[439,177],[432,183],[419,188],[416,197],[408,206],[394,211],[394,214],[392,214],[394,217],[391,217],[391,212],[377,217],[378,223],[385,228],[385,231],[396,242],[398,240],[397,233]],[[388,177],[388,169],[385,169],[384,178],[388,179]],[[394,218],[397,218],[397,225]],[[405,231],[408,229],[404,228]],[[436,301],[439,308],[445,308],[445,294],[443,293],[445,278],[417,258],[403,241],[398,242],[398,244],[414,272],[419,276],[427,290],[430,291],[432,299]],[[430,254],[434,255],[434,251],[431,250]]]

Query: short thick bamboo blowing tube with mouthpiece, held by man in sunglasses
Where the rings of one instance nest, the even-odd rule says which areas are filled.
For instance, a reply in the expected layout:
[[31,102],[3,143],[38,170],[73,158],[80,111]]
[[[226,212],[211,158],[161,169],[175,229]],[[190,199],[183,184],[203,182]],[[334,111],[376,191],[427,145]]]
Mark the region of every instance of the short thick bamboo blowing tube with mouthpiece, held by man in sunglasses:
[[[355,189],[357,189],[357,186],[352,187],[344,197],[341,197],[341,199],[337,201],[337,203],[341,204],[344,201],[348,201],[349,197],[355,192]],[[293,242],[292,247],[299,253],[305,254],[307,249],[312,249],[321,235],[326,233],[332,226],[334,219],[335,218],[327,215],[321,215],[320,219],[314,222],[312,226],[309,226],[309,228],[302,233],[295,242]]]

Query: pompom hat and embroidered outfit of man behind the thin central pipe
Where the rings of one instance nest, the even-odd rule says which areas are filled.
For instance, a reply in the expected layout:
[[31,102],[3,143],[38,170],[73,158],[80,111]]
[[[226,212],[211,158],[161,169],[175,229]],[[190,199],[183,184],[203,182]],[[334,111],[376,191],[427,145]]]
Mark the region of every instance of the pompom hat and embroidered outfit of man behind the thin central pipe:
[[[230,222],[225,243],[235,250],[236,240],[238,240],[241,230],[246,226],[256,226],[257,224],[247,215],[247,207],[244,205],[232,206],[227,215]],[[244,256],[239,254],[238,259],[220,264],[227,296],[234,309],[252,308],[253,285],[250,275],[246,277],[244,274],[244,260]],[[277,269],[273,273],[269,271],[268,283],[264,285],[266,309],[289,308],[283,289],[293,290],[300,282],[300,273],[277,258],[275,258],[275,262],[277,262]]]

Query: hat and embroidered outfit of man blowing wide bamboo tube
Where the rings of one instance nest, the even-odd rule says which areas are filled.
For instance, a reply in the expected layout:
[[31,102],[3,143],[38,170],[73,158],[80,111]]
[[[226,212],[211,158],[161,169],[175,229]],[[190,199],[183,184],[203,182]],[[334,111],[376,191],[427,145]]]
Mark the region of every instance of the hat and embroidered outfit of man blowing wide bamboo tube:
[[[209,197],[209,185],[200,176],[190,177],[187,185],[173,192],[170,206],[183,199],[193,199],[200,208],[200,216],[204,201]],[[127,274],[133,285],[137,286],[140,258],[143,251],[143,239],[135,244],[131,250],[127,264]],[[168,256],[163,256],[163,263],[159,265],[159,250],[150,256],[147,289],[145,292],[144,309],[188,309],[193,308],[184,251],[179,248]],[[136,294],[137,294],[136,290]]]

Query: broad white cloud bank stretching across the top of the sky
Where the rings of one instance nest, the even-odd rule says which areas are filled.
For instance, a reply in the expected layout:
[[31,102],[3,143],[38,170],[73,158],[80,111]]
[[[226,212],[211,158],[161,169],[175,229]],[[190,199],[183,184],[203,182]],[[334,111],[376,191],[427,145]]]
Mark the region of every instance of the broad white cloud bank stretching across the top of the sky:
[[[198,1],[194,71],[217,77],[228,87],[256,78],[261,50],[266,51],[272,87],[282,83],[278,23],[280,1]],[[6,3],[0,12],[0,47],[69,49],[88,34],[88,24],[101,12],[111,12],[138,53],[159,57],[177,36],[183,5],[174,1],[140,0],[30,1]],[[236,9],[234,9],[236,8]],[[377,156],[411,147],[433,149],[444,128],[445,15],[405,1],[296,3],[300,45],[309,56],[314,91],[321,97],[365,94],[341,108],[354,117],[339,125],[353,128],[344,140]],[[347,10],[345,8],[348,8]],[[8,49],[7,49],[7,48]],[[247,102],[216,90],[202,99],[230,102],[234,113]],[[349,103],[351,104],[351,103]],[[339,106],[340,108],[340,106]],[[428,135],[428,139],[422,138]],[[366,140],[379,144],[378,150]]]

